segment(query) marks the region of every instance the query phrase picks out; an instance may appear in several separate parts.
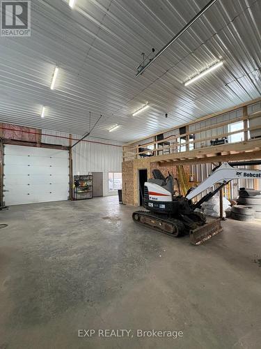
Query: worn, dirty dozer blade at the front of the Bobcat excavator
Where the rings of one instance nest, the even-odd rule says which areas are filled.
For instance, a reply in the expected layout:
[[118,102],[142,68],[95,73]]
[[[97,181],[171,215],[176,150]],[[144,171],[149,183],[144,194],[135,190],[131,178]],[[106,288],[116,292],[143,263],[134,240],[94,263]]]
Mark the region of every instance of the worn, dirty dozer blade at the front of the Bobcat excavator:
[[214,235],[219,234],[219,232],[222,232],[222,230],[223,228],[221,227],[220,219],[215,219],[214,221],[206,223],[205,225],[201,225],[195,230],[190,230],[189,236],[191,244],[200,245],[208,239],[214,237]]

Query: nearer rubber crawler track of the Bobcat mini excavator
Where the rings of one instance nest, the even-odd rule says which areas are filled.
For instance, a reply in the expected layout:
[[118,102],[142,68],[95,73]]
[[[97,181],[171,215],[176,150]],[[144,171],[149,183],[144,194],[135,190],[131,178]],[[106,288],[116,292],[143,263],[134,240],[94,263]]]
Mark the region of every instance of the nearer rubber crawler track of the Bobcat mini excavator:
[[162,214],[152,214],[150,211],[136,211],[132,214],[132,218],[135,223],[164,232],[164,234],[172,237],[179,237],[185,232],[182,221]]

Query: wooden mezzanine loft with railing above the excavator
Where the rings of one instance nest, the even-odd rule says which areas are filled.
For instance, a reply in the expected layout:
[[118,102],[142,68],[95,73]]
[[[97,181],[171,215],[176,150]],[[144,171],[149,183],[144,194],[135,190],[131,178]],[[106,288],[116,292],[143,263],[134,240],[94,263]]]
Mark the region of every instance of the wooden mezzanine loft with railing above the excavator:
[[[260,159],[261,112],[258,111],[248,114],[248,105],[252,105],[260,101],[261,98],[258,98],[254,101],[237,105],[228,110],[223,110],[222,112],[196,119],[196,121],[193,121],[190,124],[181,125],[179,128],[186,130],[186,132],[182,133],[182,135],[171,135],[168,138],[164,138],[164,140],[157,140],[157,135],[159,134],[177,131],[177,127],[175,127],[166,131],[161,131],[161,133],[150,135],[150,137],[125,144],[122,149],[123,161],[139,161],[142,160],[143,157],[147,157],[148,154],[150,154],[150,156],[148,156],[148,161],[150,161],[150,163],[158,163],[159,165],[164,166],[181,164],[192,165],[195,163],[218,163],[221,161],[252,160],[257,158]],[[210,120],[214,117],[222,116],[222,114],[240,109],[242,109],[241,117],[235,117],[233,119],[229,119],[228,121],[222,121],[217,124],[189,131],[190,126],[193,124],[198,124],[200,121]],[[249,126],[249,123],[253,120],[255,120],[254,126]],[[240,130],[229,132],[228,126],[239,121],[243,121],[244,127]],[[219,133],[219,128],[226,128],[226,131]],[[207,131],[211,131],[211,135],[209,135],[209,137],[196,137],[197,134]],[[250,135],[253,133],[253,131],[260,131],[260,135],[258,133],[258,137],[251,137]],[[206,145],[207,141],[209,142],[211,140],[221,138],[228,139],[231,135],[236,135],[238,133],[244,133],[244,139],[241,142],[230,142],[214,146],[209,146],[209,144]],[[183,140],[183,142],[181,142],[181,140]],[[165,145],[165,143],[167,145]],[[141,144],[142,147],[146,149],[145,151],[141,151]],[[163,146],[159,147],[159,144],[163,144]],[[193,149],[191,149],[191,144]],[[180,149],[183,149],[184,151],[179,151]],[[169,154],[164,154],[166,151]]]

